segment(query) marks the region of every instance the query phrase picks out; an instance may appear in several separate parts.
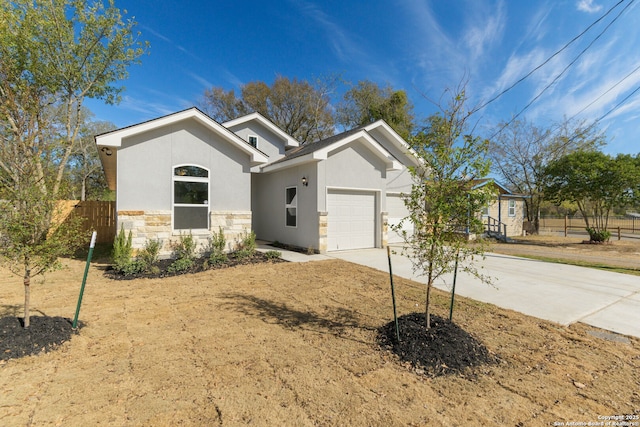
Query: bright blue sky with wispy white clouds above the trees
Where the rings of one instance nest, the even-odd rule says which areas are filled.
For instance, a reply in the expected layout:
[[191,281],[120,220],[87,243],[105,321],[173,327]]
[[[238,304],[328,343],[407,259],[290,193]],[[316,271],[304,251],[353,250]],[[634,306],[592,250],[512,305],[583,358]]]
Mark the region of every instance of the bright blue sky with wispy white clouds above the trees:
[[[352,83],[404,89],[416,113],[426,117],[436,110],[432,101],[462,79],[471,104],[492,99],[619,2],[116,0],[151,48],[141,65],[130,68],[120,105],[86,105],[96,120],[123,127],[192,107],[212,86],[238,92],[245,83],[270,84],[277,75],[313,80],[339,74]],[[481,109],[477,129],[488,136],[490,127],[516,114],[549,126],[564,117],[591,121],[613,109],[600,124],[608,137],[604,151],[640,152],[637,3],[621,1]],[[338,100],[341,92],[334,96]]]

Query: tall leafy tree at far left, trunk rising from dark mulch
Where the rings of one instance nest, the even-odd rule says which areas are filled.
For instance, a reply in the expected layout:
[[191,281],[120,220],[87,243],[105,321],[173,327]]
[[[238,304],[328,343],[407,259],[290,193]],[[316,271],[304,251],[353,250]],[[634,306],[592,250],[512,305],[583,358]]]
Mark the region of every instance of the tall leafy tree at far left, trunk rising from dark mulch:
[[111,0],[5,1],[0,22],[0,256],[21,267],[28,327],[31,277],[76,241],[55,206],[82,103],[117,102],[143,47]]

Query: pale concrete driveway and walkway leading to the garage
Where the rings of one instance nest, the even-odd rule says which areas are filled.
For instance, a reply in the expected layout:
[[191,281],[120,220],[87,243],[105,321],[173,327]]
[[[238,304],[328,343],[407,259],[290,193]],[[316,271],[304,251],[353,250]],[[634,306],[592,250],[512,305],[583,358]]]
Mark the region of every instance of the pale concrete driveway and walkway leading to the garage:
[[[386,249],[331,252],[329,255],[304,255],[281,251],[289,261],[314,261],[337,258],[377,270],[389,271]],[[413,274],[411,262],[392,255],[395,276],[426,283]],[[562,325],[583,322],[619,334],[640,338],[640,277],[592,268],[547,263],[489,253],[483,274],[493,277],[493,286],[463,273],[458,274],[456,294],[488,302],[550,320]],[[451,290],[453,276],[436,283]]]

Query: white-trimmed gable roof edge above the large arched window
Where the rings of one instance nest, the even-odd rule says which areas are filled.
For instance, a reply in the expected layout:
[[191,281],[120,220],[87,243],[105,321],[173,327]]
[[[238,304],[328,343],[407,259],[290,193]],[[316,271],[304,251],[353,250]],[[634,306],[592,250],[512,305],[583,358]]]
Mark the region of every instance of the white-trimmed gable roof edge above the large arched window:
[[118,148],[122,146],[122,140],[134,135],[138,135],[149,130],[157,129],[163,126],[172,125],[184,120],[195,120],[210,131],[219,135],[222,139],[227,141],[232,146],[240,149],[249,155],[251,159],[251,165],[261,165],[268,162],[268,157],[262,151],[251,146],[247,141],[243,140],[231,130],[227,129],[220,123],[207,116],[196,107],[189,108],[187,110],[178,111],[177,113],[169,114],[157,119],[148,120],[146,122],[138,123],[135,125],[127,126],[121,129],[116,129],[110,132],[106,132],[94,137],[96,145],[98,146],[98,154],[102,167],[104,169],[105,176],[107,178],[107,184],[110,189],[116,187],[116,166],[118,159]]

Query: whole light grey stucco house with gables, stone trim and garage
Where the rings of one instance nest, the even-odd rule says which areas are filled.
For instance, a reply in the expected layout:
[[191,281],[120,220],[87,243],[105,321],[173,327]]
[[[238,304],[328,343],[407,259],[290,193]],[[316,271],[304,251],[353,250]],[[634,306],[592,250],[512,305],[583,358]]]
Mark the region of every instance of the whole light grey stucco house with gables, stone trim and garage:
[[96,136],[117,227],[162,253],[180,233],[221,228],[314,251],[383,247],[407,215],[417,165],[384,121],[304,146],[258,113],[220,124],[191,108]]

